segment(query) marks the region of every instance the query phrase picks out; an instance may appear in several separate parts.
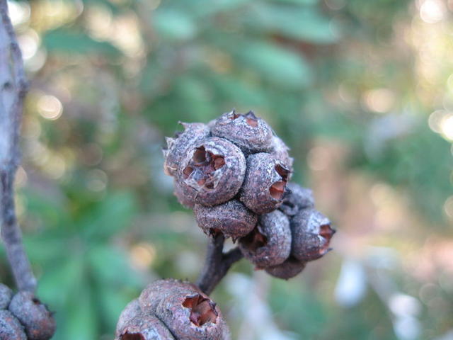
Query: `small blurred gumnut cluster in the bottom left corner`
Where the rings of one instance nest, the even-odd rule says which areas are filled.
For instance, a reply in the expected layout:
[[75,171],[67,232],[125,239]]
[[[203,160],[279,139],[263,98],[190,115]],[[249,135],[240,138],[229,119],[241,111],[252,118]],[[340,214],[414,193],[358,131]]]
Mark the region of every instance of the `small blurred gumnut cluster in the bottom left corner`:
[[0,340],[48,340],[54,332],[52,313],[33,293],[0,283]]

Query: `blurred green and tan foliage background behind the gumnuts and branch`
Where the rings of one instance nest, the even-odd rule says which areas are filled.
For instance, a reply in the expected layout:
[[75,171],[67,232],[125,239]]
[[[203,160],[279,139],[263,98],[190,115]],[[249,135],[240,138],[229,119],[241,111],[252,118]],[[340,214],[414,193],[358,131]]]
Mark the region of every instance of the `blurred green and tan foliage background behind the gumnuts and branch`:
[[[338,233],[288,282],[241,261],[234,339],[453,339],[452,0],[10,1],[31,89],[17,206],[55,339],[112,339],[206,237],[164,136],[236,108],[273,126]],[[12,285],[0,247],[0,280]]]

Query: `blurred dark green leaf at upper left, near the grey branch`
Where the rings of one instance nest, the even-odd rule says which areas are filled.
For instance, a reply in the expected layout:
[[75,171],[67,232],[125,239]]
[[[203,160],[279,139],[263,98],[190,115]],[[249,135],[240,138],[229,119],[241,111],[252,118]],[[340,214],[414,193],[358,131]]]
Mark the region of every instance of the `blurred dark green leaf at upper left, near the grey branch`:
[[86,33],[77,33],[74,30],[57,29],[49,31],[45,34],[43,42],[50,52],[100,53],[112,57],[120,55],[120,50],[117,50],[109,42],[93,40]]

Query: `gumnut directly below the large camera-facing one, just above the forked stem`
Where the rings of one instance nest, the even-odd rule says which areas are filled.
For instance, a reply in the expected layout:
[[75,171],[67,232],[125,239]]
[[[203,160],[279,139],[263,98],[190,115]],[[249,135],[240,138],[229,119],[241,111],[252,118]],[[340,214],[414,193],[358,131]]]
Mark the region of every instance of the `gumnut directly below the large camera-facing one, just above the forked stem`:
[[206,234],[222,232],[225,237],[232,237],[234,240],[246,236],[258,222],[258,216],[239,200],[229,200],[213,207],[197,204],[195,217]]

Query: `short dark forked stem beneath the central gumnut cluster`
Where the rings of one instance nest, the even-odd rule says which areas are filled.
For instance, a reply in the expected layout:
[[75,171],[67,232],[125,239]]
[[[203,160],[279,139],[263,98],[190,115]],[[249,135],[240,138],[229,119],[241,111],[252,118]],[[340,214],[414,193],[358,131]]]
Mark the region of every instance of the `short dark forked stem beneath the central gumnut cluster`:
[[210,244],[207,246],[205,266],[197,280],[197,286],[207,295],[212,293],[212,290],[224,278],[229,268],[243,258],[239,248],[224,253],[224,242],[224,235],[219,233],[210,239]]

